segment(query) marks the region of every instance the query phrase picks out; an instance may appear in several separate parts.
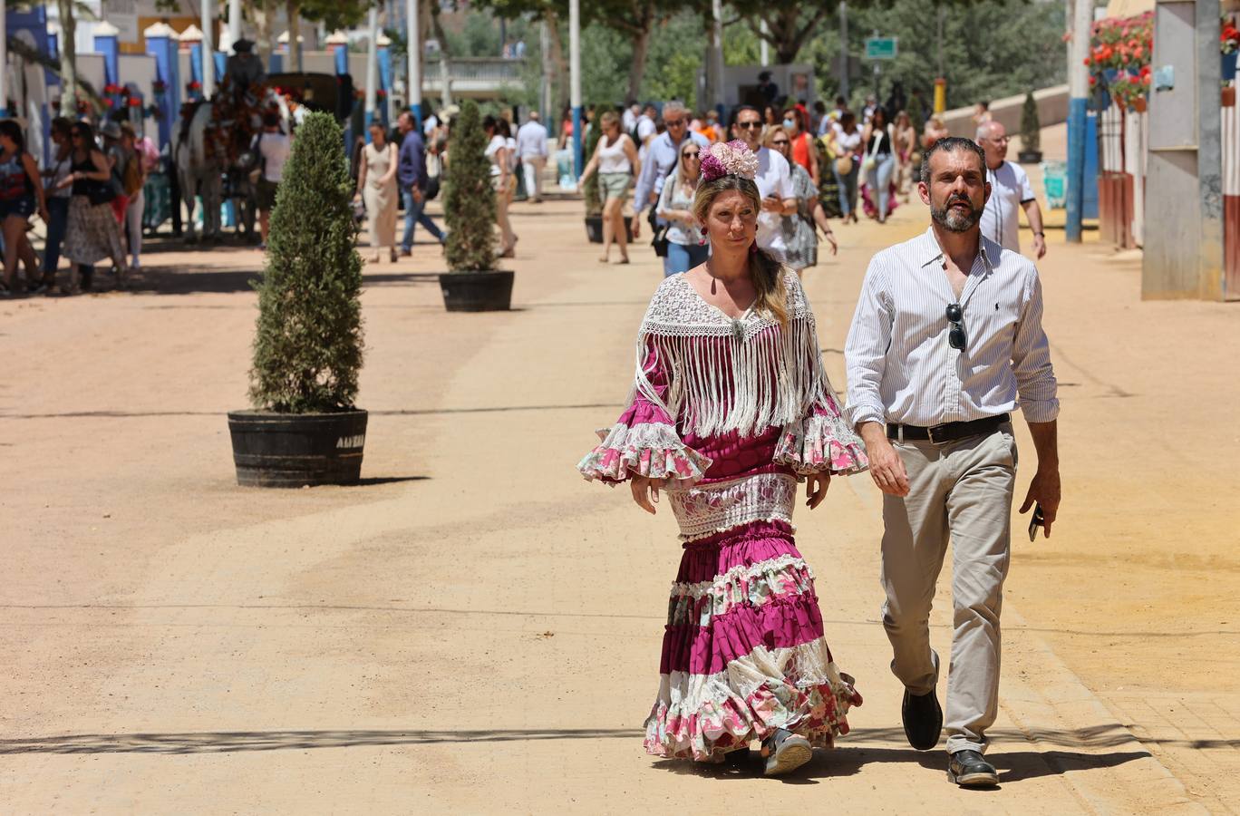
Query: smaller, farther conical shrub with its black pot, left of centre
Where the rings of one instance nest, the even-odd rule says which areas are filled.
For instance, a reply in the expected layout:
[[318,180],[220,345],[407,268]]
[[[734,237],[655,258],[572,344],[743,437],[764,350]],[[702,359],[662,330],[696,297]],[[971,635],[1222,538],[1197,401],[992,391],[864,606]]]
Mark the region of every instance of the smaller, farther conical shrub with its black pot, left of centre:
[[439,275],[448,311],[503,311],[512,305],[512,270],[496,269],[495,188],[477,104],[466,99],[453,119],[444,188],[448,268]]

